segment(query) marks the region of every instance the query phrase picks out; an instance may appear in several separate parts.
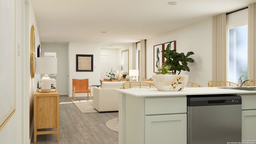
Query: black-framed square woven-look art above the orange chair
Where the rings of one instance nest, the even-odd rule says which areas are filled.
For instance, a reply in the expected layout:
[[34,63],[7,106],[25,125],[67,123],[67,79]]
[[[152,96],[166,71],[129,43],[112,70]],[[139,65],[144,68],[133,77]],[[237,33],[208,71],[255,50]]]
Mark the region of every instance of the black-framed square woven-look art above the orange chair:
[[76,54],[76,72],[93,72],[93,54]]

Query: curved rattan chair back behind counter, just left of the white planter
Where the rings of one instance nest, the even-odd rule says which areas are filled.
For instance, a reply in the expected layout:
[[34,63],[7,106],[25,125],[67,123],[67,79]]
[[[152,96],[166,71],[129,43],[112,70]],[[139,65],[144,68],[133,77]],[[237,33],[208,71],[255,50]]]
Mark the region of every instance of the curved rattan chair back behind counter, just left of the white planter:
[[153,83],[150,82],[124,82],[123,88],[156,88]]

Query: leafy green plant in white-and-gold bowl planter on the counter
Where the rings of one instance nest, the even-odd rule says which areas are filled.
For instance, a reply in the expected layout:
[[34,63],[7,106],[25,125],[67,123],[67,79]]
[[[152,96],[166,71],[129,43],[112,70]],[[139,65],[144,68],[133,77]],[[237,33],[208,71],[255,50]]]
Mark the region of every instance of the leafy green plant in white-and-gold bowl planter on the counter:
[[[162,64],[159,72],[153,75],[153,81],[156,88],[160,91],[180,91],[188,82],[188,75],[180,75],[181,70],[190,71],[188,62],[193,63],[192,58],[188,58],[194,52],[185,54],[178,53],[176,50],[171,50],[171,44],[168,44],[164,50],[166,61]],[[170,73],[172,72],[172,74]],[[178,75],[176,75],[178,72]]]

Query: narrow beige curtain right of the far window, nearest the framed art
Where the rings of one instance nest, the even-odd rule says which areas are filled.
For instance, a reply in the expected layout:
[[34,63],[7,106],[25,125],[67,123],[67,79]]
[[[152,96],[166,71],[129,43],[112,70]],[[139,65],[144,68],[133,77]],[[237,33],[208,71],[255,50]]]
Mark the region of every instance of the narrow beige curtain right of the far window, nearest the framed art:
[[146,40],[140,41],[140,81],[146,76]]

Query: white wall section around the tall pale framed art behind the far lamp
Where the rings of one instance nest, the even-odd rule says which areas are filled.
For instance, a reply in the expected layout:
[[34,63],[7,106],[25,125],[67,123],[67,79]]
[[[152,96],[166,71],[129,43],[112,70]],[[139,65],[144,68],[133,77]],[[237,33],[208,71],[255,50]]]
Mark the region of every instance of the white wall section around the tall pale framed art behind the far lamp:
[[[127,49],[129,49],[129,70],[132,70],[132,44],[130,44],[130,45],[124,47],[124,48],[119,48],[118,49],[118,55],[117,56],[118,56],[118,65],[120,66],[120,69],[119,69],[120,77],[122,76],[122,74],[121,74],[121,52],[122,52],[122,50],[127,50]],[[126,78],[131,79],[132,76],[127,75]]]

